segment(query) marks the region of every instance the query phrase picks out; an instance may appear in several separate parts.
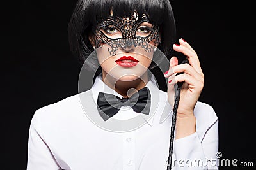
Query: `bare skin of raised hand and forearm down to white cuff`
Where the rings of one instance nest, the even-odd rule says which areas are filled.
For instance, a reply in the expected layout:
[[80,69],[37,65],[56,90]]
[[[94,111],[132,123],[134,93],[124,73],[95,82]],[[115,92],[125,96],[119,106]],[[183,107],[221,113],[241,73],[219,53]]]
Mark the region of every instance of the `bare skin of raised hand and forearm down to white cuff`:
[[[184,138],[196,132],[194,108],[204,87],[204,74],[195,50],[183,39],[179,39],[179,43],[179,46],[174,44],[173,49],[186,55],[189,64],[178,65],[177,57],[172,57],[170,69],[167,74],[164,74],[169,82],[172,80],[168,88],[177,82],[184,81],[177,110],[175,139]],[[176,75],[180,72],[184,73]]]

